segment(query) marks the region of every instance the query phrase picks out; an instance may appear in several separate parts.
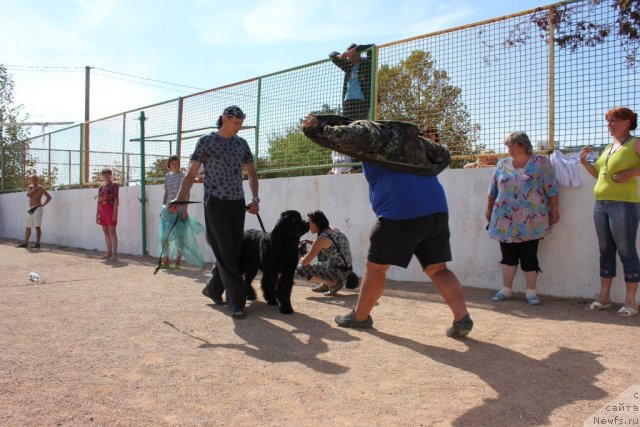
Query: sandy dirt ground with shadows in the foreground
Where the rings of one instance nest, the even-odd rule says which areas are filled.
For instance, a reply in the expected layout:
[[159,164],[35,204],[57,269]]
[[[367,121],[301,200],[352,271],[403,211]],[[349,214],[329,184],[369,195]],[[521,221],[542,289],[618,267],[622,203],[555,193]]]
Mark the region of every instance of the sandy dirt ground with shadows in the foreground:
[[389,283],[358,331],[333,322],[357,292],[297,281],[295,314],[254,301],[233,320],[202,296],[206,270],[15,244],[0,240],[2,426],[582,425],[640,384],[640,317],[582,300],[468,287],[475,329],[454,340],[430,284]]

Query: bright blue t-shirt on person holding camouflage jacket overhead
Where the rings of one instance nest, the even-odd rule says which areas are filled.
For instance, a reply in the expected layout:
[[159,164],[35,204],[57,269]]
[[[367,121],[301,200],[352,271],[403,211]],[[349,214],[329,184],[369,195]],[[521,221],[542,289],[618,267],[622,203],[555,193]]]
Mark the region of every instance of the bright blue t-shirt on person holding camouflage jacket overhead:
[[401,220],[448,212],[438,177],[395,172],[367,162],[362,162],[362,169],[376,216]]

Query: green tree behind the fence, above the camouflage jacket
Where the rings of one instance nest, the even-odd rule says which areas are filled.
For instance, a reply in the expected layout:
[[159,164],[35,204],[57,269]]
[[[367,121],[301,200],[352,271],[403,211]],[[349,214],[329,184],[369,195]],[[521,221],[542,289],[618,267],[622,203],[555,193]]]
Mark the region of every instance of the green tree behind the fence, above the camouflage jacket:
[[398,65],[380,67],[378,118],[436,129],[451,154],[472,154],[480,125],[471,121],[461,94],[447,72],[435,67],[431,53],[416,50]]

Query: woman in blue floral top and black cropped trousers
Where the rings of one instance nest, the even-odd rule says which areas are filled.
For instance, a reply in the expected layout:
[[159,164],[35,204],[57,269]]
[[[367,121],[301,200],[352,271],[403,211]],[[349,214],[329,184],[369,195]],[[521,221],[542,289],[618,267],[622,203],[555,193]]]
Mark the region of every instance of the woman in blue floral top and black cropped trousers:
[[502,252],[503,287],[491,301],[511,298],[519,263],[527,283],[527,302],[538,305],[538,242],[560,220],[560,190],[551,162],[533,154],[526,133],[513,132],[505,145],[509,157],[496,165],[485,213],[489,237],[500,242]]

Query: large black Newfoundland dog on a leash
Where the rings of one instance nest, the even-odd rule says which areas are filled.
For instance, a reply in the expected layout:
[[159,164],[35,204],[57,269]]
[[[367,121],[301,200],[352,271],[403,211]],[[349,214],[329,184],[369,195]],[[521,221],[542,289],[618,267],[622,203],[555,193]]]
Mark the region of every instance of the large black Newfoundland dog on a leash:
[[269,305],[280,304],[280,312],[293,313],[291,290],[298,265],[298,243],[309,224],[298,211],[284,211],[271,233],[247,230],[242,238],[240,272],[247,285],[248,299],[255,299],[251,282],[262,271],[262,292]]

